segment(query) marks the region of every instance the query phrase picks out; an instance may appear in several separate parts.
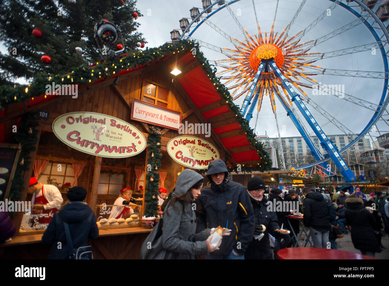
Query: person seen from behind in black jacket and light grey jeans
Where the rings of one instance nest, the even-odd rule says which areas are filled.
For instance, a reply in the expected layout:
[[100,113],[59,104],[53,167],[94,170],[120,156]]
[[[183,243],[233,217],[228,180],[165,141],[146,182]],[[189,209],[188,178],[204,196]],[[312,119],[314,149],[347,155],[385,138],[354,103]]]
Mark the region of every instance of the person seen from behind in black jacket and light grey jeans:
[[303,188],[304,225],[309,227],[314,247],[326,248],[329,242],[328,206],[322,194]]

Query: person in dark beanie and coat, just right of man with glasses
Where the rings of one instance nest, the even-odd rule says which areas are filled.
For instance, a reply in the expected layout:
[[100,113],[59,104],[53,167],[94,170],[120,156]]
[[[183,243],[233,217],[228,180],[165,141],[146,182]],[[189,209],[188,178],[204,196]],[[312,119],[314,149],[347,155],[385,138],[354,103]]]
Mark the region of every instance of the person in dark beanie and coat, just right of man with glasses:
[[[289,205],[287,206],[286,204],[283,204],[284,200],[281,197],[282,197],[282,190],[279,188],[273,188],[270,191],[270,195],[269,195],[269,201],[272,203],[270,206],[272,206],[271,209],[273,209],[273,208],[279,209],[279,208],[276,208],[277,204],[281,204],[283,206],[280,211],[276,210],[278,225],[279,225],[279,228],[289,230],[289,224],[288,224],[287,218],[285,216],[293,215],[295,213],[295,211],[293,209],[289,209]],[[284,206],[287,208],[284,209]],[[283,238],[283,240],[281,241],[282,238]],[[286,248],[289,245],[289,243],[291,242],[291,237],[289,234],[284,235],[284,237],[282,237],[282,238],[281,237],[275,238],[274,259],[278,259],[277,252],[280,249]]]

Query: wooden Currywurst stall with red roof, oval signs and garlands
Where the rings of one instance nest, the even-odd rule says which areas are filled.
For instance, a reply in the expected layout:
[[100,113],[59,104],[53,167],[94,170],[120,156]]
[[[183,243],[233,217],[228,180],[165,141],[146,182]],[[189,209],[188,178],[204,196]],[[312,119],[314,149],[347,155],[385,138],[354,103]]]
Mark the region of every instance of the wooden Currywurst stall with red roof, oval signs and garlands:
[[[122,65],[118,75],[117,66],[100,61],[84,77],[95,79],[93,74],[109,68],[114,76],[89,79],[90,84],[79,86],[77,98],[31,94],[25,109],[18,103],[5,108],[0,118],[3,138],[12,140],[12,126],[20,117],[20,133],[31,137],[19,159],[19,168],[21,160],[26,163],[25,171],[19,171],[24,179],[20,194],[11,188],[8,199],[30,201],[31,177],[58,188],[62,202],[57,209],[68,201],[71,187],[84,187],[99,228],[99,238],[92,242],[94,258],[138,258],[158,221],[159,188],[166,195],[172,192],[184,168],[201,172],[212,160],[222,159],[231,171],[239,164],[246,165],[245,171],[266,170],[270,158],[247,122],[237,117],[238,108],[215,71],[201,54],[184,52],[193,45],[167,43],[149,49],[139,53],[143,63],[130,55],[117,58],[116,65]],[[156,52],[158,58],[152,56]],[[180,73],[173,75],[174,69]],[[72,82],[73,77],[63,76]],[[49,83],[55,79],[50,77]],[[128,195],[126,209],[115,205]],[[39,242],[54,211],[47,211],[45,221],[34,213],[15,213],[18,234],[0,248],[4,257],[46,258],[49,248]],[[154,216],[149,223],[147,218]]]

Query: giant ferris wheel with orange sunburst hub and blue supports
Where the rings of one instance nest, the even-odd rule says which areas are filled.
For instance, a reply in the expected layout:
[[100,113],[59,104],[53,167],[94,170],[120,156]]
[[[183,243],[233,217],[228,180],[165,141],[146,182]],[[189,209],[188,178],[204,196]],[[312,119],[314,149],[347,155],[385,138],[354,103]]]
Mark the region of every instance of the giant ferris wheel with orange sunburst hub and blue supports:
[[[341,154],[381,128],[389,101],[389,1],[203,0],[188,10],[172,40],[200,43],[250,126],[279,138],[283,164],[281,134],[293,129],[316,159],[295,169],[333,160],[355,180]],[[329,134],[352,139],[338,148]]]

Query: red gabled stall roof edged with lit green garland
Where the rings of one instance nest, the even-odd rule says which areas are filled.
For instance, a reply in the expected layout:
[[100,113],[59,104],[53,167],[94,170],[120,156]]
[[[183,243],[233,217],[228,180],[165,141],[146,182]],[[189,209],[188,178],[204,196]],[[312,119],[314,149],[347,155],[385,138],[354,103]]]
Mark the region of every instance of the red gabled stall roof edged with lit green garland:
[[[160,48],[158,49],[161,50]],[[128,55],[128,57],[132,58],[131,55]],[[136,70],[143,69],[146,65],[152,66],[159,62],[165,62],[165,64],[172,69],[174,67],[179,67],[182,73],[176,77],[177,82],[193,102],[192,108],[194,111],[198,115],[200,114],[206,122],[211,124],[211,128],[213,130],[212,135],[217,136],[217,138],[223,143],[225,151],[231,155],[229,163],[232,168],[236,168],[237,164],[242,164],[242,166],[246,165],[246,167],[258,167],[261,163],[266,162],[266,160],[261,159],[259,154],[267,153],[265,153],[263,148],[260,150],[261,147],[258,147],[258,145],[254,146],[254,143],[251,143],[247,137],[247,133],[252,134],[252,129],[249,129],[248,126],[242,127],[238,121],[237,117],[242,117],[242,114],[239,112],[233,112],[233,103],[226,102],[226,99],[224,99],[217,90],[219,89],[220,84],[212,84],[212,82],[214,82],[211,78],[213,75],[209,75],[205,71],[205,68],[210,69],[209,64],[207,62],[201,64],[198,61],[198,58],[193,56],[191,52],[182,52],[181,54],[173,52],[166,54],[166,57],[164,58],[154,58],[142,65],[138,64],[134,68],[124,69],[118,74],[119,76],[123,75],[123,77],[125,77],[125,74],[127,73],[133,73]],[[97,63],[89,66],[89,68],[96,66],[96,64]],[[204,65],[206,66],[204,67]],[[116,76],[117,75],[114,75],[112,77],[105,78],[104,80],[101,78],[91,81],[88,84],[80,85],[79,94],[82,94],[82,92],[86,93],[93,91],[102,86],[110,85],[113,83]],[[223,88],[225,89],[224,86]],[[60,98],[56,95],[45,96],[42,94],[41,96],[36,96],[35,100],[30,100],[30,103],[27,103],[26,108],[22,108],[21,106],[19,112],[0,118],[0,124],[4,123],[8,118],[16,118],[28,111],[37,110],[37,108],[51,105],[52,101],[55,101],[56,104],[61,103],[61,100],[64,100],[64,96],[60,96]],[[266,169],[268,169],[268,167]]]

